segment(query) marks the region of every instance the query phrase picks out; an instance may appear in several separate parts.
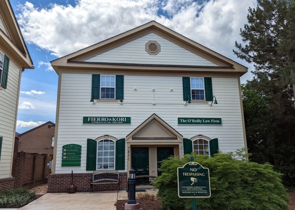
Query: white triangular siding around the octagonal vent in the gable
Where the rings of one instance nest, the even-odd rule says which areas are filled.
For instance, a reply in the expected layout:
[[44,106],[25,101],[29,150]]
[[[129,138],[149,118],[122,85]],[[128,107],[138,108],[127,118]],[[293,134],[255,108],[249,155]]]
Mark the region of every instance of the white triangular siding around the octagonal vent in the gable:
[[[157,41],[161,51],[157,55],[150,55],[145,51],[145,44]],[[217,66],[211,61],[162,38],[155,33],[142,36],[134,41],[114,48],[100,55],[85,60],[86,62],[108,63],[137,63],[137,64],[170,64],[170,65],[202,65]]]

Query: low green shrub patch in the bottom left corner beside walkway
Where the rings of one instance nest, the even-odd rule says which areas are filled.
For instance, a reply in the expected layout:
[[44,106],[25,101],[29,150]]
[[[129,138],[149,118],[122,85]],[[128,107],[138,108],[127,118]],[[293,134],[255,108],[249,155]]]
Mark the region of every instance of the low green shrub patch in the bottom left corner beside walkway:
[[26,188],[18,188],[0,193],[0,208],[24,206],[35,199],[36,193]]

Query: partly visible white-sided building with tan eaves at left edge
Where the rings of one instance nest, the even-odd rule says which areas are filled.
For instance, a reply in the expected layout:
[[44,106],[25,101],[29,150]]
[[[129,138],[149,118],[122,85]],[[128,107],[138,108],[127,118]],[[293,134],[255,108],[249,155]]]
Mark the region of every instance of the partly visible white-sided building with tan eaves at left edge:
[[21,73],[34,68],[8,0],[0,1],[0,191],[13,187],[12,157]]

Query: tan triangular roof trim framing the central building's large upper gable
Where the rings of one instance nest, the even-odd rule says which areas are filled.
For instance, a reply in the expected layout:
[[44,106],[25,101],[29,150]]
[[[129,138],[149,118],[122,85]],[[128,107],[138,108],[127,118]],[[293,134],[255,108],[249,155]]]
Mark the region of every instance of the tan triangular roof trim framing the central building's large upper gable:
[[[214,66],[214,69],[230,69],[228,71],[235,71],[246,73],[247,67],[229,59],[221,54],[195,42],[185,36],[176,33],[175,31],[157,23],[156,21],[151,21],[138,26],[129,31],[121,33],[112,38],[106,39],[67,56],[63,56],[56,60],[51,61],[51,65],[54,70],[58,73],[60,67],[93,67],[93,68],[129,68],[129,66],[149,66],[147,64],[124,64],[124,63],[106,63],[106,62],[85,62],[88,58],[94,57],[118,46],[122,46],[125,43],[135,40],[136,38],[145,36],[149,33],[155,33],[175,44],[189,50],[196,55],[211,61],[218,66]],[[128,65],[128,67],[125,67]],[[192,68],[212,68],[212,66],[179,66],[179,65],[150,65],[158,67],[192,67]],[[220,71],[220,70],[219,70]],[[225,71],[225,70],[222,70]]]

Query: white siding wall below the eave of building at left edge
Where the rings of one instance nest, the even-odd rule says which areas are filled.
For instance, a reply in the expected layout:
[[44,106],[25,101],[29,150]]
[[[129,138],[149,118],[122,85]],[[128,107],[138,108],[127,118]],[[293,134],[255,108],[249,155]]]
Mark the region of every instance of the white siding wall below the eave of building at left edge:
[[13,152],[14,122],[17,108],[20,68],[10,59],[7,88],[0,90],[0,136],[3,137],[0,159],[0,179],[10,177],[10,164]]

